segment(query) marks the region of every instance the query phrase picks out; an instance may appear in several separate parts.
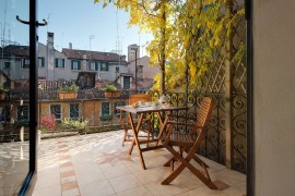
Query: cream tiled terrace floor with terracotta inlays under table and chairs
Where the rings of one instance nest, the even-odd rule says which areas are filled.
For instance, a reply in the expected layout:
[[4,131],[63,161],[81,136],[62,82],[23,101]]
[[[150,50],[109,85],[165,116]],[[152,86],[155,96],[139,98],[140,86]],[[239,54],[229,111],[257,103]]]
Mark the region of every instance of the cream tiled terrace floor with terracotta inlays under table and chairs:
[[189,170],[170,185],[161,185],[169,168],[165,149],[144,152],[143,170],[134,148],[121,146],[122,131],[44,139],[38,151],[34,196],[59,195],[246,195],[246,176],[206,160],[211,177],[228,185],[211,191]]

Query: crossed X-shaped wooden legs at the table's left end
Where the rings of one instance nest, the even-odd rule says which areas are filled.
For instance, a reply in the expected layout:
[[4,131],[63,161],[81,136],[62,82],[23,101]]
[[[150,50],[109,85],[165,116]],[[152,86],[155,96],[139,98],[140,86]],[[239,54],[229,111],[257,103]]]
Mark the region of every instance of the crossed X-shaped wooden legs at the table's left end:
[[140,156],[141,166],[142,166],[143,170],[146,170],[145,163],[144,163],[144,160],[143,160],[143,156],[142,156],[142,151],[141,151],[141,148],[140,148],[139,137],[138,137],[139,130],[140,130],[140,126],[141,126],[142,120],[143,120],[143,113],[140,114],[140,119],[139,119],[139,122],[138,122],[138,126],[137,127],[134,126],[132,114],[129,113],[128,115],[129,115],[131,127],[132,127],[133,134],[134,134],[133,135],[133,139],[132,139],[132,144],[131,144],[130,149],[129,149],[129,155],[131,155],[132,149],[133,149],[133,146],[137,145],[138,146],[138,154]]

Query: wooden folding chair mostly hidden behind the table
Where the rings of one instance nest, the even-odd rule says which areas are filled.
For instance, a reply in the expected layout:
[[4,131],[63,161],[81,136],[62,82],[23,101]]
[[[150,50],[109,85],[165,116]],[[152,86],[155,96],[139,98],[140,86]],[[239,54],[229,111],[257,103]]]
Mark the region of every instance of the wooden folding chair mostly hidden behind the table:
[[[146,95],[146,94],[134,94],[131,95],[129,98],[129,105],[133,105],[134,102],[138,101],[145,101],[145,102],[151,102],[152,101],[152,96]],[[137,122],[137,119],[133,119],[133,122]],[[123,123],[123,130],[125,130],[125,135],[123,135],[123,140],[122,140],[122,146],[125,142],[132,142],[132,135],[128,134],[128,131],[130,130],[130,122],[129,120]],[[142,128],[140,131],[146,132],[148,133],[148,139],[150,139],[150,136],[153,138],[152,134],[152,125],[151,125],[151,120],[150,119],[144,119],[142,123]],[[145,137],[145,136],[144,136]],[[149,147],[149,143],[148,143]]]

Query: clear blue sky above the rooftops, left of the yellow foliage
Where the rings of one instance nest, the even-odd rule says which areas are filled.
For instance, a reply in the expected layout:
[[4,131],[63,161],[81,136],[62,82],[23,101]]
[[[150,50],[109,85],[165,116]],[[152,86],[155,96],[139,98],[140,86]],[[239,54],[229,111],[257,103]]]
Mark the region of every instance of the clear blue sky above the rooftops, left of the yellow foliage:
[[119,39],[122,54],[127,54],[129,45],[138,44],[142,57],[146,54],[144,45],[153,38],[150,34],[139,34],[137,26],[129,28],[127,12],[111,4],[103,9],[103,4],[94,3],[94,0],[39,0],[38,21],[43,19],[49,24],[39,27],[39,42],[46,44],[47,32],[52,32],[57,50],[68,48],[72,42],[73,49],[109,52],[116,49]]

